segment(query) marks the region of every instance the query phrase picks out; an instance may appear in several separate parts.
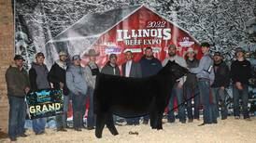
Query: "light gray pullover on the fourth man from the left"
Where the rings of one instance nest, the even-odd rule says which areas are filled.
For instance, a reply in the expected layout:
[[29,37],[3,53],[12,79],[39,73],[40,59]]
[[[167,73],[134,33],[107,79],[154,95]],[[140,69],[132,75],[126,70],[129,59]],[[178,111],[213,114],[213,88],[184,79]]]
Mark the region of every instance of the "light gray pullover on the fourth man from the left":
[[67,88],[75,95],[86,95],[88,85],[84,79],[84,69],[81,66],[70,65],[66,74]]

